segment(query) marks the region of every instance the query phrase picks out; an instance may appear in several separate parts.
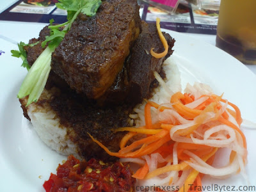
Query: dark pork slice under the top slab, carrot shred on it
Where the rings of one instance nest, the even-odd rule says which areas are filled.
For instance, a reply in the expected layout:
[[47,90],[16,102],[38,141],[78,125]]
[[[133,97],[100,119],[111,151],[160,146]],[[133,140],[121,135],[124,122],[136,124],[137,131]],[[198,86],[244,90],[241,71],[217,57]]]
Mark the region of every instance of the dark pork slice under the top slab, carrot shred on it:
[[156,24],[141,22],[142,31],[131,49],[131,54],[125,61],[124,68],[115,79],[115,83],[98,99],[102,106],[108,104],[140,103],[150,97],[150,90],[157,86],[154,81],[154,71],[164,78],[161,66],[170,57],[175,40],[168,34],[163,33],[168,42],[168,54],[163,58],[154,58],[150,50],[163,52],[164,47],[157,33]]

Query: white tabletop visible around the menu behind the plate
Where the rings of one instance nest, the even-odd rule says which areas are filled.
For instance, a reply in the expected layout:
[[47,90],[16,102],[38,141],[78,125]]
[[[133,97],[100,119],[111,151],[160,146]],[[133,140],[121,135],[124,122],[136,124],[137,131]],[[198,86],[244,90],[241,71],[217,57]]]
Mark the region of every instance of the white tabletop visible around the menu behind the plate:
[[[0,0],[0,13],[6,10],[9,6],[16,3],[18,0]],[[12,44],[23,41],[28,42],[29,39],[36,37],[35,34],[39,34],[40,30],[45,26],[42,23],[36,22],[10,22],[0,20],[0,39],[6,40]],[[33,31],[28,30],[33,28]],[[203,35],[194,33],[185,33],[192,38],[203,40],[208,44],[215,46],[216,35]],[[1,49],[0,45],[0,49]],[[254,74],[256,74],[256,65],[245,65],[250,68]]]

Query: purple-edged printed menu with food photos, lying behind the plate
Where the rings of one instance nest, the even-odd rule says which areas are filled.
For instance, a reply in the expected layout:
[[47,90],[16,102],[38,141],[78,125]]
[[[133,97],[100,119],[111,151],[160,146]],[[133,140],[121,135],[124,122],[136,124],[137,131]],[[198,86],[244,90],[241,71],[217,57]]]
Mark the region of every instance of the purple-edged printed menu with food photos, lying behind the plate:
[[[56,8],[58,0],[27,0],[18,1],[0,14],[0,20],[44,22],[54,19],[56,23],[67,21],[67,12]],[[175,13],[170,14],[153,6],[139,1],[141,19],[147,22],[156,22],[161,19],[161,28],[185,33],[202,33],[216,35],[218,24],[218,10],[207,10],[195,4],[182,1]]]

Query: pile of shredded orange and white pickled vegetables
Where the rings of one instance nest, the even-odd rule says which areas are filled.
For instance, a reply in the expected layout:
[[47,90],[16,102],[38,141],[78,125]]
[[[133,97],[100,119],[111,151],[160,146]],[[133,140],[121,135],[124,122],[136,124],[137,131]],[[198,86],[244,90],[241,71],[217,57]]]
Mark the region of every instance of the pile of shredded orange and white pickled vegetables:
[[[115,129],[129,131],[118,152],[90,137],[110,156],[120,157],[122,163],[140,166],[132,175],[137,186],[159,186],[160,190],[172,186],[188,191],[191,186],[199,188],[204,175],[223,179],[241,172],[247,179],[247,145],[240,129],[239,108],[223,95],[214,95],[204,84],[188,84],[185,92],[174,93],[167,103],[148,101],[145,125]],[[143,136],[132,140],[138,134]],[[230,153],[227,165],[216,168],[212,166],[214,156],[223,148]]]

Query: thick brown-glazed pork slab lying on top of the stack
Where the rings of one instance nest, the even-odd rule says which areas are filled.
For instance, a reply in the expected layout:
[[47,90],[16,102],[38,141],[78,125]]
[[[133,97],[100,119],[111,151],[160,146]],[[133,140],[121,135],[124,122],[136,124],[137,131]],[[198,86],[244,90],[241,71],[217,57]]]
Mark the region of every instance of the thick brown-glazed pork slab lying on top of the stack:
[[97,99],[113,84],[140,35],[136,0],[106,0],[93,17],[79,15],[52,54],[52,70],[77,93]]

